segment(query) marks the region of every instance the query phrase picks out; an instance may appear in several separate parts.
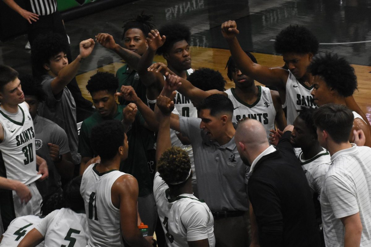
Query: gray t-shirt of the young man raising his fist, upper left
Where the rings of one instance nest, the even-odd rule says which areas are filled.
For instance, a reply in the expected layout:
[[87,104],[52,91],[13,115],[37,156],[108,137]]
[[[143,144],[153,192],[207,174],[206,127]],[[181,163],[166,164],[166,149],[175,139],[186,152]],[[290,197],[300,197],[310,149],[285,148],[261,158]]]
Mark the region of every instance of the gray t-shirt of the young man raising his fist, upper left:
[[41,84],[47,94],[47,99],[39,104],[38,113],[41,117],[52,120],[66,131],[73,164],[80,164],[81,156],[77,152],[79,137],[76,124],[75,100],[67,87],[59,94],[54,95],[51,87],[54,79],[55,77],[50,75],[43,76]]

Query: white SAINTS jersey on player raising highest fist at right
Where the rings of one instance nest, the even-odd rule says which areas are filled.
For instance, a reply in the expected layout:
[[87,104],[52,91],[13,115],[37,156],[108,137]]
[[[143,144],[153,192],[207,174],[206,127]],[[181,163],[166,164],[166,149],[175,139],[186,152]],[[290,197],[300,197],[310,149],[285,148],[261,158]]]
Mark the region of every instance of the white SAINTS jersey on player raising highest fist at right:
[[289,77],[286,82],[286,101],[283,108],[286,109],[287,124],[294,124],[296,117],[302,106],[316,107],[311,92],[313,86],[308,87],[296,80],[295,76],[289,71]]

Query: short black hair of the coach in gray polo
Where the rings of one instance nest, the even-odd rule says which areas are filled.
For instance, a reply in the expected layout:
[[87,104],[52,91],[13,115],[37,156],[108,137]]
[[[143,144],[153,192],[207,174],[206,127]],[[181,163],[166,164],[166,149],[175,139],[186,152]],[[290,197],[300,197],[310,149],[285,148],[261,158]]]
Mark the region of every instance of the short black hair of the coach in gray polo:
[[232,116],[234,107],[228,96],[223,94],[211,94],[201,101],[199,109],[209,109],[211,116],[216,116],[218,113],[229,113]]

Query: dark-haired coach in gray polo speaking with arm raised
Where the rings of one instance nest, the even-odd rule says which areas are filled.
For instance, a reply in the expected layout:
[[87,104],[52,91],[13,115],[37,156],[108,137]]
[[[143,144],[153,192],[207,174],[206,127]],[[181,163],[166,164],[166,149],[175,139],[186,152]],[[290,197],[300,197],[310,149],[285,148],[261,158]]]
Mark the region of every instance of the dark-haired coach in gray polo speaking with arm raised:
[[216,245],[248,246],[249,168],[234,142],[233,103],[213,94],[201,101],[199,109],[200,118],[172,115],[171,128],[191,141],[198,193],[214,215]]

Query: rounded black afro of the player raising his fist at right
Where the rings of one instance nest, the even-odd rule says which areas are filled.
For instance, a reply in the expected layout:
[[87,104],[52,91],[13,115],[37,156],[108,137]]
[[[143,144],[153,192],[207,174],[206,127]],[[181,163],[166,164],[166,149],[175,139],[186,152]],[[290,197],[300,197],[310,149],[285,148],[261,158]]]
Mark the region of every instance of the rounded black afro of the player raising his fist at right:
[[288,26],[276,36],[276,53],[297,53],[313,55],[318,52],[318,40],[314,34],[303,26]]

